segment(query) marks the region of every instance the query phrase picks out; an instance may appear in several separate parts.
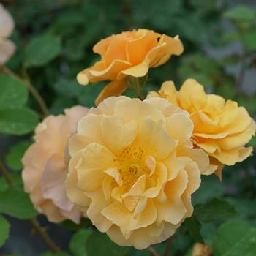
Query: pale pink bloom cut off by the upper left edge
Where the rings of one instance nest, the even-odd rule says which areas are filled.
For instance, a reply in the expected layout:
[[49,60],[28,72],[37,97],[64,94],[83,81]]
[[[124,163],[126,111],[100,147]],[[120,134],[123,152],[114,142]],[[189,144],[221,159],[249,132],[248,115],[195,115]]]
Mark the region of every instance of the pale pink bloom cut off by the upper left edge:
[[12,16],[0,4],[0,64],[5,64],[15,52],[14,43],[7,39],[12,34],[14,26]]

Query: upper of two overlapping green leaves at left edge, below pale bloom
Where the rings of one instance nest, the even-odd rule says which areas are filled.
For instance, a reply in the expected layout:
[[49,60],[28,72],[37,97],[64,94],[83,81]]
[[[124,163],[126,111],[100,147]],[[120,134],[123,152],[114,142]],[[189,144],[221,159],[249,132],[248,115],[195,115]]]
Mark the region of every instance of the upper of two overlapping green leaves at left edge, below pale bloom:
[[26,86],[13,75],[0,74],[0,110],[20,107],[26,103]]

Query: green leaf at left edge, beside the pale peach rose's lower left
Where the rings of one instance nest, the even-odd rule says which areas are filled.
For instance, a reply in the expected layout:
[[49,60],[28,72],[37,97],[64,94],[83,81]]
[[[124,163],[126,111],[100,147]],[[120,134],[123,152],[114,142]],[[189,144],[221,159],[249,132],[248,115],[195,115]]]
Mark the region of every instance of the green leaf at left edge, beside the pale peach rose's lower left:
[[0,191],[0,213],[18,219],[29,219],[37,215],[29,195],[23,192],[23,188],[18,187]]

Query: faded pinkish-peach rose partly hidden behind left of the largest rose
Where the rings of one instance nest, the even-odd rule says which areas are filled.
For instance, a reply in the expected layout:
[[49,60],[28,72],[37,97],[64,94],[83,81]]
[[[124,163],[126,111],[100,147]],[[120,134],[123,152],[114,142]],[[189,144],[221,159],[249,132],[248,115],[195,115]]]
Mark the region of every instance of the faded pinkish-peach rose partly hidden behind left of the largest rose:
[[87,108],[75,106],[65,110],[65,115],[45,118],[35,130],[35,143],[22,160],[25,191],[30,194],[34,208],[45,214],[50,222],[71,219],[78,223],[82,217],[66,195],[64,179],[67,140],[86,112]]

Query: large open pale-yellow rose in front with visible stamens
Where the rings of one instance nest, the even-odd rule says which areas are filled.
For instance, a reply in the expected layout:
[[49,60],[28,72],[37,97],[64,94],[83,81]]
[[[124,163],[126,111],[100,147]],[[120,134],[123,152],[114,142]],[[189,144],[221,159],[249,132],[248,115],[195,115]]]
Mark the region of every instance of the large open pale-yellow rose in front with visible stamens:
[[67,196],[118,245],[164,241],[192,215],[208,170],[192,130],[187,111],[166,99],[105,99],[69,140]]

